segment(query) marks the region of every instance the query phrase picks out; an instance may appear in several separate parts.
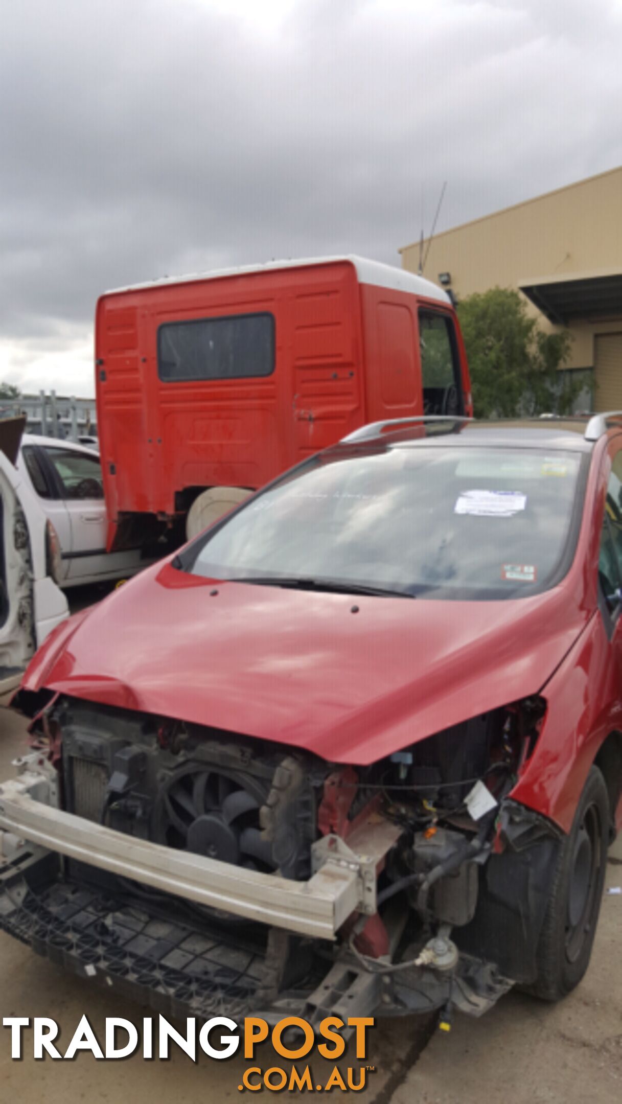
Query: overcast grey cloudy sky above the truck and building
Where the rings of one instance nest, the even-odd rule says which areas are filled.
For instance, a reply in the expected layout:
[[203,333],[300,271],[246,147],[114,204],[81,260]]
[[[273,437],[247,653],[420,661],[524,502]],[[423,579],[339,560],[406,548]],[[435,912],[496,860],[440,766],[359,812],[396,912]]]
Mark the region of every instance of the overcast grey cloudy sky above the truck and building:
[[6,0],[0,380],[93,393],[103,290],[399,264],[622,162],[622,0]]

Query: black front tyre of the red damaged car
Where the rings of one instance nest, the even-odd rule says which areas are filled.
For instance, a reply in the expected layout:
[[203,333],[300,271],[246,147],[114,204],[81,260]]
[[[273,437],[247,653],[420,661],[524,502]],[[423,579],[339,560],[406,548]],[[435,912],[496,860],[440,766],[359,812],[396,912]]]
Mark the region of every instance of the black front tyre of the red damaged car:
[[542,1000],[566,997],[588,968],[600,912],[608,842],[607,786],[602,774],[593,766],[560,850],[538,942],[538,977],[529,991]]

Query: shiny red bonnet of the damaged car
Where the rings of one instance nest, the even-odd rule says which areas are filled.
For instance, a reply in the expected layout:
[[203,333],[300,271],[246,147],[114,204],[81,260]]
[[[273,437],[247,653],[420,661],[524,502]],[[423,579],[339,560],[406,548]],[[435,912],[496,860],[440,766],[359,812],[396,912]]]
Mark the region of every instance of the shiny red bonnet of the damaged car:
[[170,565],[144,572],[91,609],[45,686],[366,764],[535,692],[587,620],[562,591],[357,595],[354,616],[348,595],[212,588]]

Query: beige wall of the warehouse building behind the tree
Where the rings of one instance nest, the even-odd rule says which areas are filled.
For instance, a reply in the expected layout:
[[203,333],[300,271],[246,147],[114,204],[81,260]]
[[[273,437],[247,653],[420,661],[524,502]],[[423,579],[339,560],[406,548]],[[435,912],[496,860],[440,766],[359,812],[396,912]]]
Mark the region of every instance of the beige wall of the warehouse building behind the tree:
[[[424,241],[424,275],[437,283],[440,273],[450,273],[458,300],[496,286],[621,273],[622,167],[445,231],[428,246]],[[418,272],[419,242],[399,252],[402,267]],[[544,329],[556,329],[530,301],[528,308]],[[622,302],[619,315],[577,318],[568,329],[573,341],[567,367],[593,369],[597,336],[622,333]]]

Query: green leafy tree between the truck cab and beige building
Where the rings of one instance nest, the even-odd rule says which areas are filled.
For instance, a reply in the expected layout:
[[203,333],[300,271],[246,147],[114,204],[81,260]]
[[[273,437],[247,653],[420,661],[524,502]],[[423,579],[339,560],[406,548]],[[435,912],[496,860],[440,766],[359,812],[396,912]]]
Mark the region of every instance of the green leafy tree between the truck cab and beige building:
[[584,381],[559,372],[570,354],[567,331],[541,330],[512,288],[470,295],[457,314],[477,417],[569,413]]

